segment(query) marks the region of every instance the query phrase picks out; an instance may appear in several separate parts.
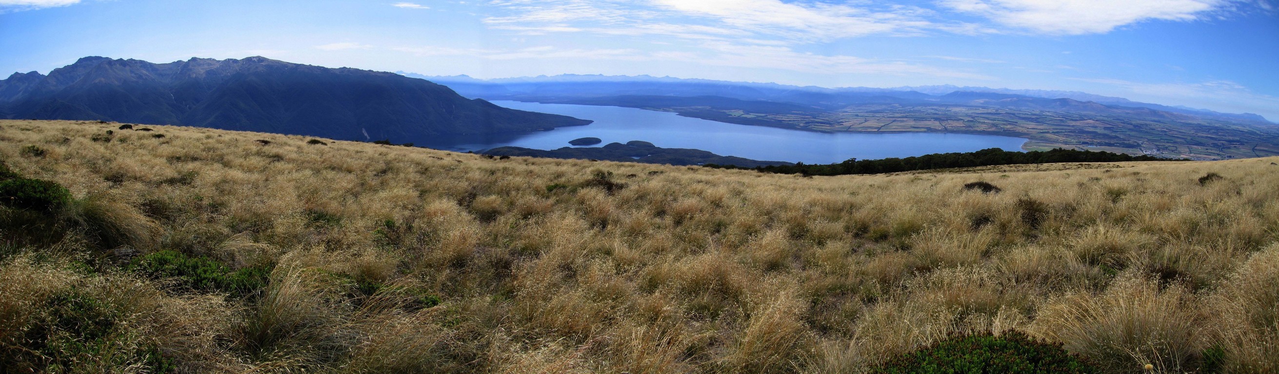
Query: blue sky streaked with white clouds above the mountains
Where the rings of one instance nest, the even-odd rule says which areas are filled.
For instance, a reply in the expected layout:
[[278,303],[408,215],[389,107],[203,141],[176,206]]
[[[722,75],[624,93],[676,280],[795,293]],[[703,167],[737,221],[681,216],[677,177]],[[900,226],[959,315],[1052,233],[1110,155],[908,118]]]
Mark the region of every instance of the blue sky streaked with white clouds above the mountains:
[[1069,89],[1279,121],[1275,0],[0,0],[0,71],[90,55]]

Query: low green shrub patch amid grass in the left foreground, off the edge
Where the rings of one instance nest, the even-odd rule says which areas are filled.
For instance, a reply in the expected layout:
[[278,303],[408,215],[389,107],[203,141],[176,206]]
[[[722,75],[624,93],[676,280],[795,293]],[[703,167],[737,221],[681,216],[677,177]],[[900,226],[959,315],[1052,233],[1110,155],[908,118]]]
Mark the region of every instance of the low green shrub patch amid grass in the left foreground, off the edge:
[[129,266],[134,272],[175,282],[175,287],[194,291],[230,292],[237,297],[256,294],[270,278],[267,267],[231,271],[207,257],[187,257],[179,251],[161,250],[137,258]]

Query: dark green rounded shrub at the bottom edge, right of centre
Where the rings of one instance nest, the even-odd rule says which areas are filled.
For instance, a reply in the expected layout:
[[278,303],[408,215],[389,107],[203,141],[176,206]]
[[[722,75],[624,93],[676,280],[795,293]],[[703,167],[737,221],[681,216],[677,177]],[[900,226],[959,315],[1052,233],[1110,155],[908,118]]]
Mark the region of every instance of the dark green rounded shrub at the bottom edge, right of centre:
[[872,374],[1096,373],[1062,345],[1009,331],[955,336],[871,368]]

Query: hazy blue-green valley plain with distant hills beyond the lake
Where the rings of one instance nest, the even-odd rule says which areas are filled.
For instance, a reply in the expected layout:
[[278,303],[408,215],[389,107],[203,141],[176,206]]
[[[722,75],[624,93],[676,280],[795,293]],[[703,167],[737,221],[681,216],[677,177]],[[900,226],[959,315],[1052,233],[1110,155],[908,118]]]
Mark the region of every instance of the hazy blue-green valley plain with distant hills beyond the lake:
[[[824,133],[1022,137],[1026,149],[1095,149],[1221,160],[1279,154],[1279,125],[1251,114],[1133,102],[1082,92],[982,87],[821,88],[654,77],[423,77],[486,100],[623,106],[721,123]],[[1037,97],[1040,96],[1073,96]],[[1096,100],[1096,101],[1094,101]],[[1105,103],[1097,102],[1102,101]]]

